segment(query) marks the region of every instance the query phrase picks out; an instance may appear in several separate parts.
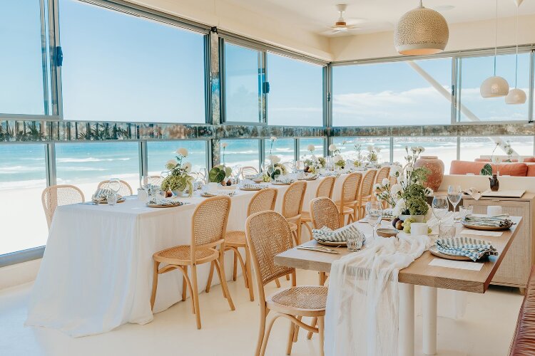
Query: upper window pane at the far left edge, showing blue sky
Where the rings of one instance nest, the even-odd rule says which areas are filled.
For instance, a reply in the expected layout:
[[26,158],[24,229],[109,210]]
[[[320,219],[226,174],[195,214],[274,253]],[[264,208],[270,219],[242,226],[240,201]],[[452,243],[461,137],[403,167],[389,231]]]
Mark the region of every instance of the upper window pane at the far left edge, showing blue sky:
[[[49,114],[46,20],[41,23],[39,0],[2,1],[0,4],[0,112]],[[45,11],[46,9],[43,9]],[[41,26],[43,26],[41,30]],[[43,56],[43,51],[45,56]]]

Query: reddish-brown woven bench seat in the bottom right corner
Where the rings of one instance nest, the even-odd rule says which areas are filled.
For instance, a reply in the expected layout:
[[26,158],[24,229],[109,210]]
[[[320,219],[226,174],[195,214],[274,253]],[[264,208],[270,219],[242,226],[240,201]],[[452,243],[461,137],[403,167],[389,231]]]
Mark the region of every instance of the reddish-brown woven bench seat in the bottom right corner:
[[535,355],[535,267],[531,269],[509,356]]

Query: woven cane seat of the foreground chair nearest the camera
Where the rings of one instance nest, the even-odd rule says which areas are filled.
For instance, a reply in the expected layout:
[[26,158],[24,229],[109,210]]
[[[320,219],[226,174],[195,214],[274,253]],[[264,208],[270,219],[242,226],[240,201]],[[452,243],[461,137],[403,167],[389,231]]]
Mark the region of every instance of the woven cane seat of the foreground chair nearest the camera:
[[290,287],[267,298],[267,305],[270,309],[279,310],[286,308],[325,310],[327,290],[328,288],[324,286]]

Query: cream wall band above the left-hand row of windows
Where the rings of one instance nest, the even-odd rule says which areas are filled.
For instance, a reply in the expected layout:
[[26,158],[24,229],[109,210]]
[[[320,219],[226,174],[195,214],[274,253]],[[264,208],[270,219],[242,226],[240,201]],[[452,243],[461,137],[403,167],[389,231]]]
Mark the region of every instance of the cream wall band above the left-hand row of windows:
[[329,38],[225,0],[129,0],[134,4],[331,61]]

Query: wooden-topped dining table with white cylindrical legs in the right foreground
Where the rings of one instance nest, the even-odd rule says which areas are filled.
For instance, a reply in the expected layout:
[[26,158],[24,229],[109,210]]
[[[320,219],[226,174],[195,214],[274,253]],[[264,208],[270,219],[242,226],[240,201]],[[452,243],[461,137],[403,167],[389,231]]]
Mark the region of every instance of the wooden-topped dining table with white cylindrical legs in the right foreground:
[[[455,267],[454,262],[457,261],[444,260],[432,255],[429,251],[424,251],[422,256],[407,268],[399,271],[399,355],[414,355],[414,286],[422,286],[423,352],[425,355],[435,355],[437,353],[437,288],[485,293],[522,222],[521,216],[511,216],[510,219],[515,224],[509,230],[503,231],[501,236],[489,236],[494,234],[467,234],[474,230],[457,224],[457,236],[489,241],[498,251],[497,256],[489,256],[478,262],[481,266],[472,265],[478,268],[481,267],[479,270],[466,269],[471,266],[463,263]],[[383,221],[384,223],[385,221]],[[360,231],[368,239],[372,235],[372,226],[365,221],[359,221],[358,225]],[[315,240],[312,240],[305,242],[301,246],[320,245]],[[363,248],[366,248],[366,245]],[[333,249],[338,254],[291,248],[275,256],[275,264],[329,273],[332,263],[352,253],[345,247]],[[358,253],[358,251],[353,253]],[[439,260],[439,263],[446,263],[449,266],[434,266],[435,260]],[[459,266],[465,266],[465,268]]]

